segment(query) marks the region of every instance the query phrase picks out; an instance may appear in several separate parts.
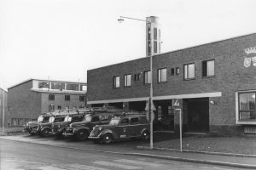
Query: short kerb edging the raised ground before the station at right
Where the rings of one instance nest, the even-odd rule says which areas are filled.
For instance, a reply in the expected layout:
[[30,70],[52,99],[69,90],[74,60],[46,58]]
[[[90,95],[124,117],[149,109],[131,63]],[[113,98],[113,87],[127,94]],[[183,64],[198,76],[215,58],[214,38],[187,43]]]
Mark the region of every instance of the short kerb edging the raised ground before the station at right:
[[[137,146],[137,149],[140,149],[140,150],[150,150],[150,148],[148,146]],[[180,152],[180,150],[170,149],[170,148],[153,148],[153,150],[171,150],[171,151]],[[208,154],[208,155],[218,155],[218,156],[256,157],[256,155],[233,154],[233,153],[225,153],[225,152],[212,152],[212,151],[199,151],[199,150],[183,150],[183,152],[198,153],[198,154]]]

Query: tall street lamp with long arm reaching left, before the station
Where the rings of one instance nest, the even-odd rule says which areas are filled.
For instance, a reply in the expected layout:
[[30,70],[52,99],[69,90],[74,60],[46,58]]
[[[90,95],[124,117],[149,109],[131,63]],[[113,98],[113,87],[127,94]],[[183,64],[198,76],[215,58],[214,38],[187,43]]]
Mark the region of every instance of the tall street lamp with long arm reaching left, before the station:
[[[119,23],[125,21],[125,19],[128,20],[138,20],[138,21],[143,21],[146,22],[150,26],[151,29],[151,22],[148,20],[140,20],[140,19],[135,19],[131,17],[126,17],[126,16],[120,16],[118,21]],[[150,38],[151,39],[151,38]],[[149,101],[150,101],[150,149],[153,149],[153,119],[154,119],[154,112],[153,112],[153,65],[152,65],[152,53],[149,54],[150,58],[150,73],[151,73],[151,82],[150,82],[150,94],[149,94]]]

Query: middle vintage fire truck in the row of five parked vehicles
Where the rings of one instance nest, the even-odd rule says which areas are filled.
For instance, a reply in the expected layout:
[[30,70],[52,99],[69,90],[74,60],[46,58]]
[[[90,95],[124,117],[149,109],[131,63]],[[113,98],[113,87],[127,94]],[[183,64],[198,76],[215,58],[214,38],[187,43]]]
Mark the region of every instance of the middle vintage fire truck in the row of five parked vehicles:
[[65,116],[63,122],[52,122],[50,134],[56,135],[57,137],[63,137],[62,133],[65,132],[66,128],[73,122],[81,122],[84,120],[85,114],[90,113],[90,110],[76,110],[70,111],[69,115]]

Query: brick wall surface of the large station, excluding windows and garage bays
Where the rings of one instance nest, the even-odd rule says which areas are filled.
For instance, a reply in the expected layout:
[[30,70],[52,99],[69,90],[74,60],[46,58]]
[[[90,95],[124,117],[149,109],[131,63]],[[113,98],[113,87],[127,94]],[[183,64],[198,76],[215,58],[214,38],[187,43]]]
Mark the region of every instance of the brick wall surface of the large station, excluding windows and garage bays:
[[[220,93],[219,96],[206,96],[215,104],[209,104],[210,131],[240,133],[241,126],[236,124],[236,92],[256,90],[256,66],[244,66],[246,57],[255,56],[254,52],[247,54],[245,49],[253,47],[256,47],[256,34],[153,56],[154,98],[184,99],[183,95]],[[214,77],[202,77],[202,61],[209,59],[215,62]],[[195,63],[195,79],[184,80],[183,66],[189,63]],[[177,67],[179,75],[171,76],[171,69]],[[160,68],[167,69],[166,82],[157,82]],[[143,84],[143,72],[148,70],[149,58],[142,58],[88,71],[88,103],[147,98],[149,86]],[[140,81],[133,79],[137,73],[141,73]],[[125,74],[132,75],[131,88],[124,88]],[[117,89],[113,88],[115,76],[120,77]]]

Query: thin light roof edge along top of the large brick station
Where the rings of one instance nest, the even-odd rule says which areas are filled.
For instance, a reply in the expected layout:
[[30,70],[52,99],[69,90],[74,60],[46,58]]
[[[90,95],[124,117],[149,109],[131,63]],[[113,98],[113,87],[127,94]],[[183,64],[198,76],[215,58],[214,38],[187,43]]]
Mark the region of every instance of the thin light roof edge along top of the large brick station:
[[[160,56],[160,55],[162,55],[162,54],[172,54],[172,53],[175,53],[175,52],[178,52],[178,51],[182,51],[182,50],[185,50],[185,49],[189,49],[189,48],[198,48],[198,47],[205,46],[205,45],[209,45],[209,44],[212,44],[212,43],[224,42],[224,41],[228,41],[228,40],[235,39],[235,38],[250,36],[250,35],[253,35],[253,34],[256,34],[256,33],[253,32],[253,33],[249,33],[249,34],[245,34],[245,35],[241,35],[241,36],[228,37],[228,38],[224,38],[224,39],[218,40],[218,41],[213,41],[213,42],[207,42],[207,43],[203,43],[203,44],[198,44],[198,45],[190,46],[190,47],[187,47],[187,48],[175,49],[175,50],[173,50],[173,51],[169,51],[169,52],[166,52],[166,53],[154,54],[154,55],[152,55],[152,57],[158,57],[158,56]],[[112,65],[105,65],[105,66],[97,67],[97,68],[94,68],[94,69],[90,69],[90,70],[88,70],[88,71],[93,71],[93,70],[101,69],[101,68],[108,67],[108,66],[119,65],[119,64],[126,63],[126,62],[131,62],[131,61],[135,61],[135,60],[138,60],[138,59],[146,59],[146,58],[149,58],[149,57],[148,57],[148,56],[145,56],[145,57],[140,57],[140,58],[137,58],[137,59],[126,60],[126,61],[123,61],[123,62],[120,62],[120,63],[115,63],[115,64],[112,64]]]

